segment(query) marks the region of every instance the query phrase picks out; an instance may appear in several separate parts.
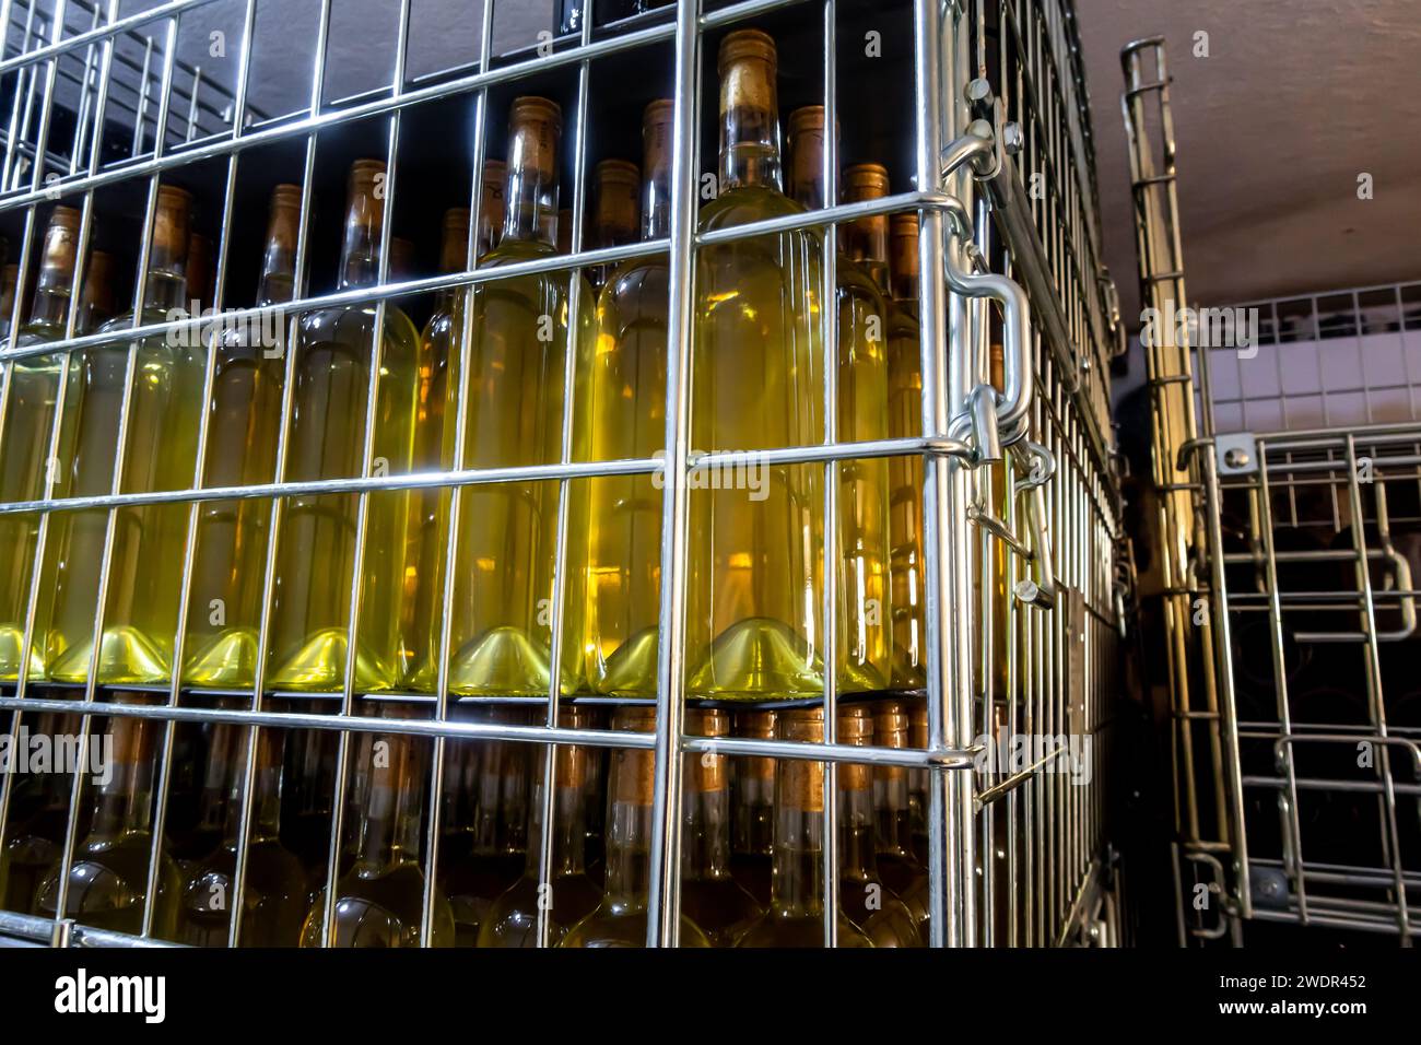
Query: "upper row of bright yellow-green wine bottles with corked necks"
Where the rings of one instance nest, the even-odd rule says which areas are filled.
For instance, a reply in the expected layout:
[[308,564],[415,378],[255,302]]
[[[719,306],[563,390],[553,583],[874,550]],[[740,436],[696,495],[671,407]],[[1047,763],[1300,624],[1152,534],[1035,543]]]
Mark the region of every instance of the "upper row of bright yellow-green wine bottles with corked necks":
[[[718,195],[701,208],[702,230],[830,202],[820,107],[790,117],[784,185],[773,40],[757,30],[729,34],[719,73]],[[554,102],[513,102],[507,164],[490,164],[483,178],[473,245],[480,267],[558,250],[558,230],[570,226],[558,220],[560,135]],[[597,168],[594,245],[668,235],[671,152],[672,107],[655,101],[645,111],[639,171],[628,161]],[[378,161],[358,161],[351,169],[340,290],[381,279],[379,252],[388,240],[382,176]],[[843,182],[847,200],[882,198],[890,189],[888,172],[872,164],[848,168]],[[162,320],[189,297],[190,202],[175,186],[158,192],[141,323]],[[280,306],[296,293],[300,212],[300,191],[277,186],[260,306]],[[47,260],[34,320],[16,344],[63,333],[74,282],[74,218],[55,210],[47,239],[53,264]],[[469,235],[468,212],[450,210],[445,270],[466,267]],[[826,364],[837,367],[833,428],[840,441],[921,434],[917,239],[915,215],[867,218],[841,230],[838,344],[827,354],[818,230],[702,246],[692,449],[820,444],[830,421]],[[658,456],[668,284],[668,259],[654,256],[587,274],[522,274],[445,291],[422,334],[395,301],[364,303],[304,313],[290,336],[284,323],[219,326],[210,345],[151,337],[126,350],[118,343],[70,357],[26,357],[11,368],[0,432],[3,493],[26,500],[45,491],[63,498],[186,489],[195,482],[217,488],[507,468],[554,463],[564,452],[573,461]],[[98,328],[118,331],[132,321],[118,316]],[[209,348],[212,394],[205,402]],[[571,387],[564,387],[567,374]],[[51,454],[61,387],[63,424]],[[286,398],[290,428],[283,439]],[[460,407],[463,445],[455,445]],[[567,446],[564,414],[571,417]],[[206,451],[199,461],[203,421]],[[55,468],[45,466],[51,459]],[[845,692],[922,685],[919,458],[845,461],[838,468],[834,651],[823,641],[823,466],[752,461],[720,475],[692,475],[691,486],[689,694],[817,695],[826,655],[837,657]],[[196,688],[250,688],[260,674],[277,692],[338,691],[352,665],[351,685],[361,692],[429,692],[443,670],[456,694],[546,695],[554,661],[551,607],[561,597],[560,690],[649,697],[657,688],[661,506],[659,476],[652,475],[566,485],[499,482],[456,493],[379,491],[364,503],[350,493],[298,495],[274,506],[260,499],[202,502],[192,526],[186,620],[178,617],[189,505],[53,513],[33,586],[40,519],[6,516],[13,536],[0,549],[0,680],[18,674],[33,601],[34,681],[84,682],[94,668],[102,684],[168,682],[175,636],[183,630],[180,674]],[[554,591],[564,512],[567,570],[561,591]],[[458,552],[446,577],[450,540]],[[101,587],[105,562],[108,584]],[[101,590],[107,597],[95,640]],[[352,611],[355,650],[348,651]],[[449,661],[441,664],[445,614]]]

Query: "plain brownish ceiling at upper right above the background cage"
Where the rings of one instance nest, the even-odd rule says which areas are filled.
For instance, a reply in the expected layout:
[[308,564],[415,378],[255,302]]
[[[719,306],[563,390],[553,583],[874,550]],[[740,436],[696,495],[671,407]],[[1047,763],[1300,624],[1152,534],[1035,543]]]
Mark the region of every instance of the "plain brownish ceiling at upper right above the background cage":
[[[1140,309],[1120,48],[1144,36],[1168,40],[1195,303],[1421,279],[1417,0],[1077,0],[1077,13],[1127,317]],[[1194,55],[1201,31],[1208,57]]]

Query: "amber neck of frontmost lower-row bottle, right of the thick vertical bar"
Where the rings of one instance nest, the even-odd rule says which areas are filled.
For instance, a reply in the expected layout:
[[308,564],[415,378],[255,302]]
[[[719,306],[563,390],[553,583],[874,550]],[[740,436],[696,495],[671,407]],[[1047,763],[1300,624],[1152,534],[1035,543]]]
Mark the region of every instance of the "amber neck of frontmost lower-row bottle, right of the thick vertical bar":
[[794,917],[824,913],[824,766],[783,759],[774,786],[770,906]]

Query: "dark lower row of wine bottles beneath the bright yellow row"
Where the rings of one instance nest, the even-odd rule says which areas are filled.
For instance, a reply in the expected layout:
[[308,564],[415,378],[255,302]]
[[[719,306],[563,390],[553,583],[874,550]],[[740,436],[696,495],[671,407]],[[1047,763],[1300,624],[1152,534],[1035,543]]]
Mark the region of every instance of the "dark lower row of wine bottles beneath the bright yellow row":
[[[125,700],[141,701],[139,695]],[[384,715],[409,708],[382,705]],[[531,724],[527,709],[485,712]],[[55,731],[77,717],[48,717]],[[567,728],[610,725],[651,732],[651,707],[611,712],[564,705]],[[71,778],[40,775],[20,788],[0,850],[0,909],[138,933],[149,880],[156,769],[163,725],[111,721],[112,772],[87,785],[74,860],[60,876]],[[820,742],[818,708],[689,708],[702,736]],[[918,701],[845,704],[841,744],[890,748],[925,741]],[[226,945],[240,906],[242,945],[321,945],[337,754],[333,731],[207,727],[206,758],[179,728],[171,758],[161,866],[153,876],[152,933],[193,945]],[[256,751],[249,745],[256,738]],[[99,736],[95,735],[97,744]],[[638,947],[647,937],[654,755],[649,749],[561,745],[556,752],[549,874],[541,874],[543,786],[549,748],[512,742],[445,746],[438,877],[429,883],[426,802],[432,744],[408,734],[352,734],[330,944],[396,947],[421,941],[432,887],[435,945],[534,947],[540,906],[549,943]],[[685,947],[818,947],[824,926],[823,763],[686,755],[682,800],[681,944]],[[246,877],[233,893],[253,781]],[[183,768],[196,769],[185,776]],[[926,825],[921,781],[894,766],[838,768],[838,944],[918,947],[926,941]],[[27,779],[26,783],[30,783]]]

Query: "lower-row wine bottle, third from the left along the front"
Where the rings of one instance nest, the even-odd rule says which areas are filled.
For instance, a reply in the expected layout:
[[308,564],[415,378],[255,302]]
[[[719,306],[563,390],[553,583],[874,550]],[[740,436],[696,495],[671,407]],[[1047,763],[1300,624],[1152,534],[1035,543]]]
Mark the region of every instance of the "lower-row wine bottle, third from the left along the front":
[[[404,705],[389,704],[385,717],[408,717]],[[362,745],[361,789],[355,830],[355,860],[335,883],[331,947],[418,947],[425,896],[419,860],[421,818],[428,776],[426,746],[408,734],[371,734]],[[325,920],[323,889],[301,928],[303,947],[321,945]],[[452,947],[453,914],[439,890],[433,896],[429,944]]]

